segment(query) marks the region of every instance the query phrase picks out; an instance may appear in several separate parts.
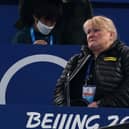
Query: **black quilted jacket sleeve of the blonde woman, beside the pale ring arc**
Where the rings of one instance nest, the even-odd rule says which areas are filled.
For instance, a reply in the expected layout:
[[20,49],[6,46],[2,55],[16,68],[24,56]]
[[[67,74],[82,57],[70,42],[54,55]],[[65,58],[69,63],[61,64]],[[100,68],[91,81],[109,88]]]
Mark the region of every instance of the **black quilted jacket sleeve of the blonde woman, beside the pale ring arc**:
[[72,73],[72,71],[76,67],[78,56],[79,55],[74,55],[70,58],[60,78],[57,80],[56,88],[54,90],[54,105],[66,105],[65,84],[67,83],[67,75],[68,73]]

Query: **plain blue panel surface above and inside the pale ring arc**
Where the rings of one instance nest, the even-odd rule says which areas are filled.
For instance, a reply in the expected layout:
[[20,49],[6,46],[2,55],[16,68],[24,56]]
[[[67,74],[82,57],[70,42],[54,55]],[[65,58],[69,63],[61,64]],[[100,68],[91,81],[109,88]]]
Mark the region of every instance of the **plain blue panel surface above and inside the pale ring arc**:
[[[35,54],[50,54],[68,60],[80,52],[80,46],[1,45],[0,78],[18,60]],[[7,51],[8,52],[7,52]],[[4,55],[4,56],[3,56]],[[48,62],[37,62],[23,67],[9,82],[7,104],[53,104],[56,81],[63,68]]]

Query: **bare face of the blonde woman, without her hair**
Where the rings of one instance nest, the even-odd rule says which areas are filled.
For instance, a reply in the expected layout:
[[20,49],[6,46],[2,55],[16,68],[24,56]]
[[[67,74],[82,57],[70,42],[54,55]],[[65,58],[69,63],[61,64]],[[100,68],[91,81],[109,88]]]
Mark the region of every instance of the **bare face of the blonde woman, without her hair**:
[[102,27],[87,24],[86,30],[88,47],[93,53],[100,53],[108,49],[112,43],[112,33]]

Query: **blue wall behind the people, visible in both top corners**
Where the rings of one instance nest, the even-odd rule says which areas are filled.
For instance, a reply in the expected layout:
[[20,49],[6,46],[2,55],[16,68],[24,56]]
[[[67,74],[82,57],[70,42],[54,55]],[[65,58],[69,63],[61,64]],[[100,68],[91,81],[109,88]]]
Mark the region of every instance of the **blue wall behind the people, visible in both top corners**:
[[[11,43],[16,28],[15,22],[19,17],[19,0],[0,0],[0,43]],[[129,44],[129,0],[90,0],[93,15],[104,15],[111,18],[119,37]],[[72,17],[72,16],[71,16]]]

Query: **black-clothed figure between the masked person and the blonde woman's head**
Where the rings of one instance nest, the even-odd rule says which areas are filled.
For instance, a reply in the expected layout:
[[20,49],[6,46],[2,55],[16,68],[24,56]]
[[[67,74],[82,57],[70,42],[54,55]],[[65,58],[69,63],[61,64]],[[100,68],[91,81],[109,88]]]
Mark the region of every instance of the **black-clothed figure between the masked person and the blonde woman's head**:
[[92,17],[89,0],[68,0],[63,3],[63,16],[57,23],[56,36],[61,44],[86,44],[84,22]]

